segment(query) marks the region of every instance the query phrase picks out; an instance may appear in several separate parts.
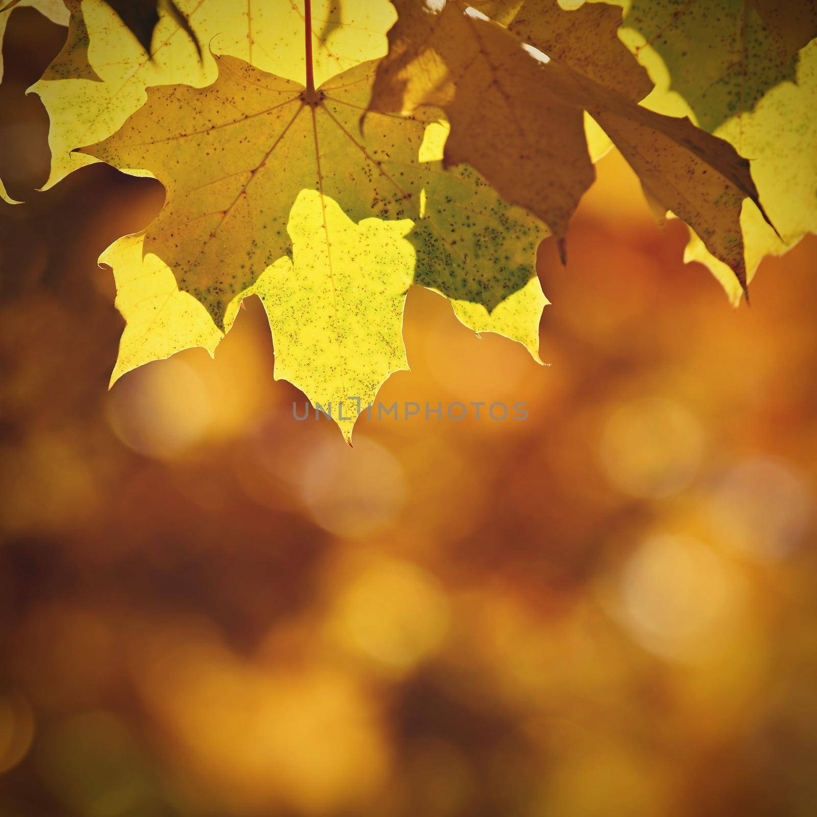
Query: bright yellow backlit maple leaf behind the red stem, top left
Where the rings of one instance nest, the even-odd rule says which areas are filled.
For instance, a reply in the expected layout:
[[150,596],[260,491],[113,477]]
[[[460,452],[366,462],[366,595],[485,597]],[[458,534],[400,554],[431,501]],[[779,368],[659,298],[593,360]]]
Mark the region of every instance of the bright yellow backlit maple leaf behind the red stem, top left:
[[[55,0],[56,2],[56,0]],[[301,2],[176,0],[195,37],[219,54],[237,56],[262,70],[303,81],[304,18]],[[185,83],[203,87],[217,69],[208,49],[199,60],[194,43],[162,11],[152,59],[103,0],[72,0],[65,48],[29,90],[50,119],[51,173],[44,189],[96,161],[75,148],[116,132],[145,103],[145,88]],[[394,20],[387,0],[315,0],[313,65],[318,83],[386,53]],[[97,76],[86,73],[93,65]],[[95,79],[101,81],[94,81]]]

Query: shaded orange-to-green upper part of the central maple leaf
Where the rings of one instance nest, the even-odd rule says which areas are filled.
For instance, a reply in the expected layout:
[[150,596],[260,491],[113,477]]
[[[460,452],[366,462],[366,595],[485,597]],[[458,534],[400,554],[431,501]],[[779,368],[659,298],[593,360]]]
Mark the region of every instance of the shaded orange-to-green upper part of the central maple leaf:
[[449,297],[490,312],[534,276],[541,228],[470,169],[446,173],[422,161],[437,115],[381,115],[358,134],[372,63],[311,98],[242,60],[222,56],[218,65],[211,86],[151,88],[118,132],[81,149],[167,187],[145,252],[172,267],[217,326],[224,328],[230,301],[288,252],[284,225],[305,189],[331,197],[355,221],[413,219],[417,264],[428,275],[445,270],[435,285]]

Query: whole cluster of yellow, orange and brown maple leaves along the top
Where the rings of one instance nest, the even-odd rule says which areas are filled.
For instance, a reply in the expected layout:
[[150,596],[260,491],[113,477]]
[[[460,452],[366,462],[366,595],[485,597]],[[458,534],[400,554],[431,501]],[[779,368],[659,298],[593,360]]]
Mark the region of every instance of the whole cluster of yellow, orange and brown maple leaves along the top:
[[408,368],[412,284],[538,360],[538,243],[566,256],[611,145],[735,302],[817,229],[813,0],[10,5],[68,25],[32,88],[46,187],[101,160],[167,190],[100,258],[126,320],[112,382],[212,353],[255,294],[275,377],[348,440]]

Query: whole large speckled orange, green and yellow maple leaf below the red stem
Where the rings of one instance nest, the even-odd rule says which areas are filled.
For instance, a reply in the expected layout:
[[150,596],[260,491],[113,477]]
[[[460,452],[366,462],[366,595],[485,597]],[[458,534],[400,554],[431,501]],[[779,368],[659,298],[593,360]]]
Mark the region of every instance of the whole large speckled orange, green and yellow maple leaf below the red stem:
[[[151,261],[154,272],[172,270],[182,292],[155,273],[150,280],[159,290],[145,291],[145,279],[123,295],[124,283],[140,280],[136,256],[120,257],[125,270],[108,262],[129,326],[149,325],[148,335],[161,329],[172,341],[159,352],[141,329],[126,333],[118,372],[172,354],[180,343],[212,347],[216,336],[199,319],[174,335],[176,310],[192,310],[183,293],[224,332],[237,303],[256,292],[270,316],[277,376],[315,402],[337,407],[338,399],[359,396],[365,404],[405,366],[400,315],[412,280],[448,297],[463,323],[522,342],[538,359],[546,301],[535,260],[547,233],[471,168],[444,171],[447,127],[439,114],[377,114],[360,132],[373,63],[328,80],[314,96],[234,57],[217,64],[208,87],[150,88],[118,132],[83,148],[116,167],[149,172],[167,188],[142,250],[162,262]],[[309,192],[316,198],[304,203]],[[295,220],[296,202],[311,206],[310,217]],[[281,266],[289,255],[294,270]],[[375,275],[390,266],[396,277]],[[167,292],[168,311],[159,310],[156,324],[146,312],[155,312],[158,292]],[[344,413],[354,420],[357,409]],[[342,427],[348,435],[351,425]]]

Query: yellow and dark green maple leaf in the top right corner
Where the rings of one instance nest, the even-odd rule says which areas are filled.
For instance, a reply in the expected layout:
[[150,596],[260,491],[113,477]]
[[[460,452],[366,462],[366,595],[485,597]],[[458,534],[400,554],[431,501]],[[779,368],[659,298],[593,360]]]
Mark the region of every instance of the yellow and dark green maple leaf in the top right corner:
[[[751,280],[764,257],[782,255],[807,233],[817,232],[817,121],[813,114],[817,108],[817,42],[810,42],[789,59],[784,70],[774,58],[779,53],[775,42],[782,40],[764,29],[770,4],[762,0],[753,2],[753,7],[732,0],[615,3],[630,8],[620,37],[656,83],[644,105],[666,114],[690,116],[751,160],[752,178],[777,230],[770,228],[752,203],[743,203],[745,265]],[[758,16],[755,9],[761,7],[765,8]],[[778,25],[788,30],[799,27],[801,39],[812,36],[815,31],[808,25],[808,15],[814,7],[811,0],[776,4]],[[712,15],[725,20],[718,31],[708,30]],[[655,29],[661,30],[660,36],[650,33]],[[746,47],[749,34],[755,40]],[[737,62],[732,65],[730,60]],[[742,65],[747,66],[745,75]],[[740,69],[738,77],[736,68]],[[743,104],[736,104],[736,99],[743,99]],[[685,260],[708,266],[730,300],[739,301],[741,288],[734,275],[694,234]]]

